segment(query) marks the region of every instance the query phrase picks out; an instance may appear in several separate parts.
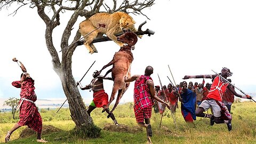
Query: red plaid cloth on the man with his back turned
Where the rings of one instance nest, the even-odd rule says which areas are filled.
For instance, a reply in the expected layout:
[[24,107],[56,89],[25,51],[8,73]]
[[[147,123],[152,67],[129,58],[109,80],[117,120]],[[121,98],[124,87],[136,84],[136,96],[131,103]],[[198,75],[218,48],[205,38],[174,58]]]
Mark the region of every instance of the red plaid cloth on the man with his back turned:
[[153,101],[149,92],[149,87],[146,84],[148,79],[152,80],[150,76],[141,75],[140,78],[134,83],[133,108],[136,121],[138,123],[143,122],[144,118],[151,117]]

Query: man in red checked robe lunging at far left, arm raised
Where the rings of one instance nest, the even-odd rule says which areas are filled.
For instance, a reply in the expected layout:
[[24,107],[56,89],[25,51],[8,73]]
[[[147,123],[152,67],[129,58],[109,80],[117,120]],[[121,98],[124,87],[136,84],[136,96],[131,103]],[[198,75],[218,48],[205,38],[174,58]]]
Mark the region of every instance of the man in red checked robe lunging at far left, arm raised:
[[47,142],[41,139],[42,132],[42,118],[35,105],[37,99],[35,93],[34,79],[27,73],[25,66],[16,58],[12,59],[17,62],[23,73],[20,81],[12,82],[12,85],[20,88],[20,102],[17,109],[20,110],[20,121],[15,124],[10,131],[5,135],[5,142],[10,141],[11,134],[19,127],[27,125],[29,128],[37,132],[37,142]]

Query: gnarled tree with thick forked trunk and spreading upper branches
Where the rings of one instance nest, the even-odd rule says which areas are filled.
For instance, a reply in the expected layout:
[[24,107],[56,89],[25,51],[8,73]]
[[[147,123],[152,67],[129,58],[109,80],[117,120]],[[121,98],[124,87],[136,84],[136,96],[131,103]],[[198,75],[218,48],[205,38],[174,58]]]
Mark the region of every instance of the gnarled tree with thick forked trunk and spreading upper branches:
[[[106,1],[106,0],[105,0]],[[63,30],[61,37],[61,50],[69,45],[68,41],[71,39],[73,42],[77,41],[81,37],[79,31],[76,31],[74,37],[71,36],[71,30],[77,18],[85,17],[89,18],[91,15],[99,12],[100,10],[113,13],[116,11],[123,11],[126,13],[133,14],[143,14],[141,11],[147,7],[154,4],[155,0],[134,0],[134,1],[108,1],[110,5],[103,3],[103,0],[0,0],[0,10],[9,9],[11,6],[17,6],[12,13],[15,15],[20,7],[29,6],[30,8],[36,8],[37,14],[44,21],[46,25],[45,29],[45,42],[46,47],[52,57],[52,64],[55,73],[60,77],[62,89],[65,92],[69,103],[69,109],[71,113],[71,118],[79,129],[81,127],[91,127],[94,126],[92,118],[86,113],[85,105],[82,101],[81,94],[76,87],[76,82],[71,70],[71,58],[77,47],[77,45],[72,45],[69,49],[62,51],[61,60],[59,58],[58,52],[53,43],[53,30],[60,25],[60,13],[61,15],[66,14],[67,11],[73,12],[70,19],[66,23],[66,28]],[[14,4],[16,5],[14,5]],[[110,9],[111,7],[111,9]],[[45,12],[47,11],[47,13]]]

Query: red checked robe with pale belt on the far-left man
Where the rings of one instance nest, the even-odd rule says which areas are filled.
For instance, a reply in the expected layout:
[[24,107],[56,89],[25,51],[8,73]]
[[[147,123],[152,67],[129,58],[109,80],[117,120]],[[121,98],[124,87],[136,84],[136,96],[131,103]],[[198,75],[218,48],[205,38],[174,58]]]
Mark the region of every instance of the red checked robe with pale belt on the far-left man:
[[[20,81],[14,81],[12,82],[12,85],[21,88],[20,98],[26,98],[34,102],[36,101],[34,80],[32,78],[26,78],[22,87]],[[20,121],[18,122],[18,125],[27,125],[38,133],[42,132],[42,118],[34,103],[23,100],[23,103],[20,106]]]

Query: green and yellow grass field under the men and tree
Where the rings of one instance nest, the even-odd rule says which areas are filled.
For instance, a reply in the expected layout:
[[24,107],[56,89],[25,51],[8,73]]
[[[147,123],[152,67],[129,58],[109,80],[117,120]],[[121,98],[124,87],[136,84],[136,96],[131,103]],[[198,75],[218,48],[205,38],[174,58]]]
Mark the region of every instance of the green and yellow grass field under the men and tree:
[[[111,107],[110,107],[111,108]],[[95,125],[101,129],[107,123],[113,123],[107,118],[106,113],[101,113],[101,108],[92,111],[91,116]],[[74,134],[74,122],[70,118],[68,109],[61,109],[56,115],[56,110],[41,110],[43,118],[43,129],[46,125],[52,125],[60,129],[58,132],[42,134],[42,138],[49,143],[146,143],[146,130],[143,132],[111,132],[101,130],[100,138],[82,139]],[[180,109],[174,115],[178,129],[173,123],[170,111],[166,111],[163,116],[162,126],[159,128],[161,120],[160,114],[153,112],[151,125],[153,127],[153,143],[256,143],[256,103],[238,102],[233,103],[231,107],[233,116],[233,130],[228,131],[226,124],[214,124],[210,126],[210,119],[199,118],[194,122],[195,126],[185,123]],[[210,110],[209,110],[210,113]],[[114,111],[119,124],[125,124],[129,127],[137,126],[135,121],[132,103],[119,105]],[[19,119],[12,119],[11,113],[0,114],[0,142],[4,142],[6,132]],[[18,115],[17,115],[18,116]],[[17,117],[18,118],[18,117]],[[36,134],[28,138],[19,138],[19,135],[26,126],[20,127],[11,135],[11,142],[8,143],[37,143]]]

